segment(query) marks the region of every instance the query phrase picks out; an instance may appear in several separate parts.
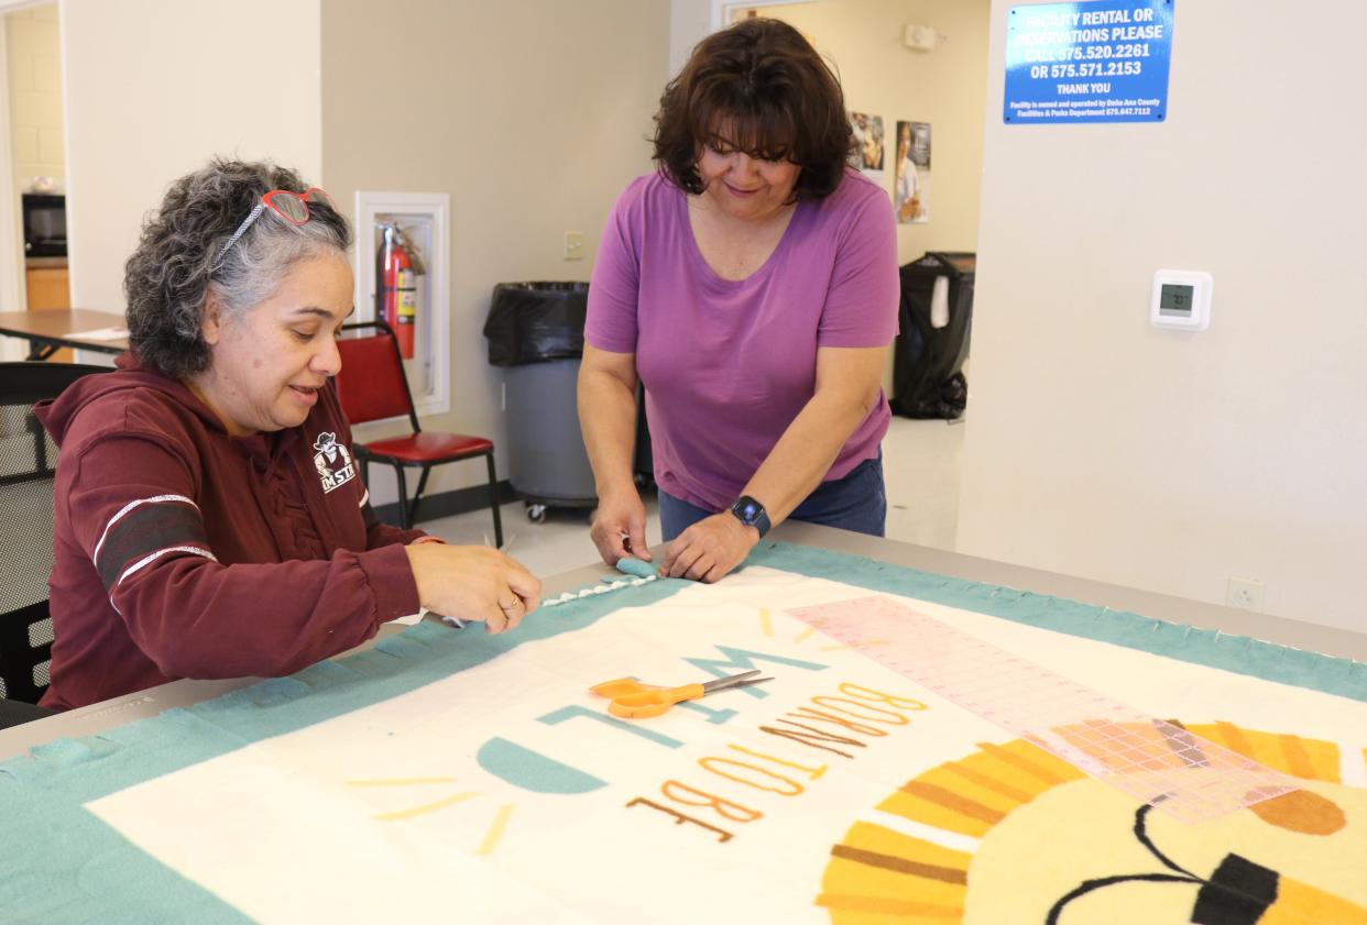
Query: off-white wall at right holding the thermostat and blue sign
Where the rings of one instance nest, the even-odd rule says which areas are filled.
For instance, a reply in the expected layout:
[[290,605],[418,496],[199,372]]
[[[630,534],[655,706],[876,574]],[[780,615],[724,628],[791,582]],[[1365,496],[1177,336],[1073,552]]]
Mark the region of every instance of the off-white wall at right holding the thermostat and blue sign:
[[[1367,7],[1180,4],[1165,124],[1003,126],[992,3],[962,552],[1367,629]],[[1270,49],[1275,49],[1271,52]],[[1275,60],[1275,66],[1273,61]],[[1210,331],[1151,328],[1158,268]]]

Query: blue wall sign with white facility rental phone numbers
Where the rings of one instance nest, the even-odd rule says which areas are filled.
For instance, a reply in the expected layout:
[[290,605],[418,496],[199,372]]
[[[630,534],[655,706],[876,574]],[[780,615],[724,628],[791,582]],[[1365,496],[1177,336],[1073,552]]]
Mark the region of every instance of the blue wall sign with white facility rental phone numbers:
[[1173,0],[1012,7],[1007,124],[1162,122],[1173,57]]

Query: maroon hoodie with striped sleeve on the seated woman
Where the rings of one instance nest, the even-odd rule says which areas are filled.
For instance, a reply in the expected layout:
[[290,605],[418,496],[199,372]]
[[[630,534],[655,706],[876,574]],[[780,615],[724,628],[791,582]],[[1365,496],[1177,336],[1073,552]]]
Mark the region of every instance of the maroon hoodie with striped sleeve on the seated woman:
[[422,533],[375,519],[331,383],[303,425],[230,437],[124,355],[36,413],[62,448],[45,706],[287,675],[418,609]]

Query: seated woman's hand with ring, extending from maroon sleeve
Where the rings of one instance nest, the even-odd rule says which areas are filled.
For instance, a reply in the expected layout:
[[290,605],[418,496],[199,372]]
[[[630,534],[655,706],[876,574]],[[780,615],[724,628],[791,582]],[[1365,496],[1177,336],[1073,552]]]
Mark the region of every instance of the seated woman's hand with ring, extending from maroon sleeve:
[[541,601],[536,575],[498,549],[428,542],[405,551],[418,603],[435,613],[484,620],[487,633],[506,633]]

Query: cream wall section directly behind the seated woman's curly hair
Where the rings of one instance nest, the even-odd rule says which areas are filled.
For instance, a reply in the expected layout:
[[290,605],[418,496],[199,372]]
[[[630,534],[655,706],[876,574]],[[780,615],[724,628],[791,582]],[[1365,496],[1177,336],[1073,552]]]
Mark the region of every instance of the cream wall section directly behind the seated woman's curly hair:
[[171,180],[212,154],[320,175],[320,0],[63,4],[71,296],[122,312],[123,261]]

